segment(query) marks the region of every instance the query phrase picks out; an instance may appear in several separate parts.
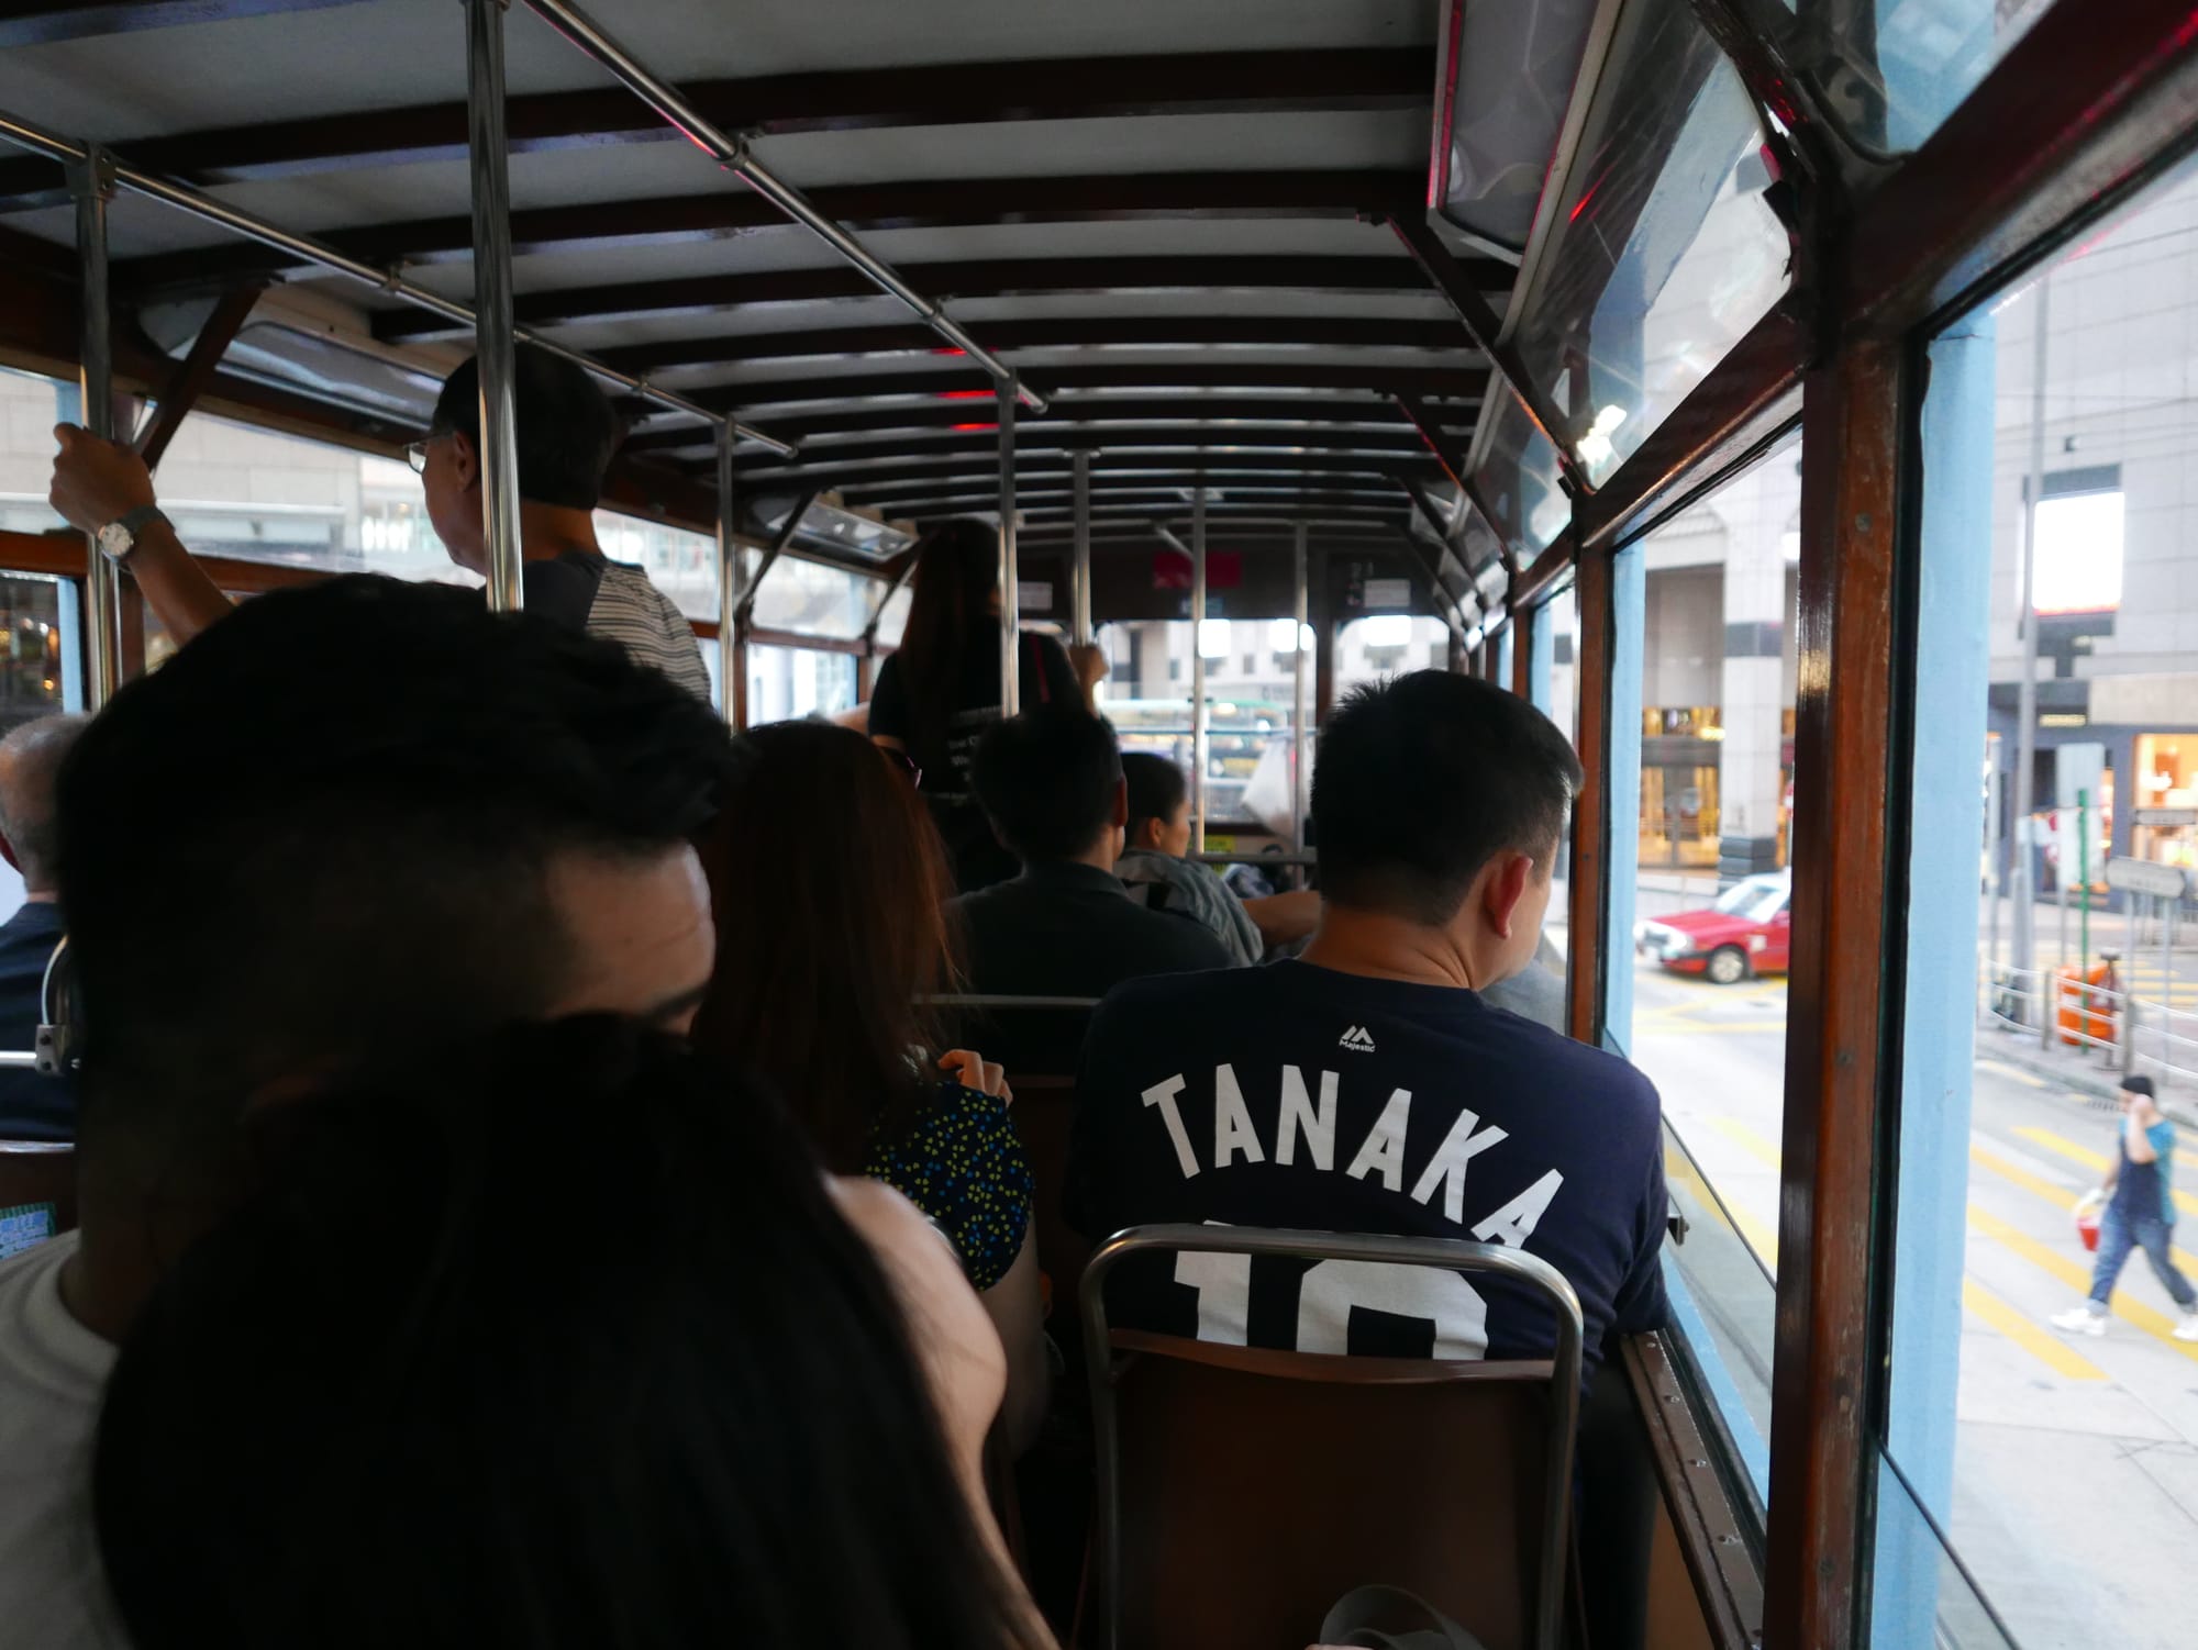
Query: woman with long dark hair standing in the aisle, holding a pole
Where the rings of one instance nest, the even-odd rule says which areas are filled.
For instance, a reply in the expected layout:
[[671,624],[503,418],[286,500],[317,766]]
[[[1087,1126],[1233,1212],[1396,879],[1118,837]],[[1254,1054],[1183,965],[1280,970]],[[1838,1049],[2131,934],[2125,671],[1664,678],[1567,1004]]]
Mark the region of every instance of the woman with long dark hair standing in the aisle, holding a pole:
[[[1015,672],[1024,710],[1090,703],[1053,637],[1018,637]],[[1015,857],[969,795],[969,754],[1000,714],[1000,534],[985,521],[950,521],[917,545],[908,628],[877,672],[868,725],[921,773],[963,894],[1015,874]]]

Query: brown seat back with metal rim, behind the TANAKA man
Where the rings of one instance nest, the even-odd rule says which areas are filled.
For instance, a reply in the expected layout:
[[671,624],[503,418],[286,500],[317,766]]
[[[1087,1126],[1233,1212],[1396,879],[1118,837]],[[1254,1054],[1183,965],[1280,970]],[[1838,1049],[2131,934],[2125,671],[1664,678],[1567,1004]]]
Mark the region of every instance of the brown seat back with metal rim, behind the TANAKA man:
[[1554,1650],[1580,1391],[1563,1279],[1550,1272],[1574,1331],[1554,1360],[1339,1358],[1108,1329],[1106,1274],[1143,1248],[1473,1270],[1488,1246],[1198,1226],[1103,1244],[1084,1276],[1099,1448],[1088,1646],[1297,1650],[1343,1593],[1380,1582],[1488,1650]]

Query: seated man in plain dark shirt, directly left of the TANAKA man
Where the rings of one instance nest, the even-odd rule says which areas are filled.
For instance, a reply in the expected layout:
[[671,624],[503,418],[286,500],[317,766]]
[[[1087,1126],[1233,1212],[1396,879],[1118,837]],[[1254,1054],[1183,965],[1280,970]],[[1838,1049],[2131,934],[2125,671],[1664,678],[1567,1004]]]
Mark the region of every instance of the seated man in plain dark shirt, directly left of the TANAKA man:
[[[974,780],[1022,859],[1013,881],[954,901],[974,993],[1101,997],[1145,973],[1231,967],[1209,929],[1147,912],[1114,874],[1130,802],[1101,718],[1053,707],[998,723],[976,747]],[[1075,1068],[1081,1024],[996,1024],[1009,1070]]]

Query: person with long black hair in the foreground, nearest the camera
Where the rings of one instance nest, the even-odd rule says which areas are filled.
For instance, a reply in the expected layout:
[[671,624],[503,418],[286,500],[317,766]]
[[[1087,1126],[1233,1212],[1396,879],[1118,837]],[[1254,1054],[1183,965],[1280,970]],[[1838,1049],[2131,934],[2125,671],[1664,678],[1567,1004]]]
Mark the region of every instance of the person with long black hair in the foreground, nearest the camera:
[[879,1193],[890,1279],[750,1085],[582,1017],[257,1134],[99,1419],[136,1650],[1048,1643],[897,1305],[954,1257]]

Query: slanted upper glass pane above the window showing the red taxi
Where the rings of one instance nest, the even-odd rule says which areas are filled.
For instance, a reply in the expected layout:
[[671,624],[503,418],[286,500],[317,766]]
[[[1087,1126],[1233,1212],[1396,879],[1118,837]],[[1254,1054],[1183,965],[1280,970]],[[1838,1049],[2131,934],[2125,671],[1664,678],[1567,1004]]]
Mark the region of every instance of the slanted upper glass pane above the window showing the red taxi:
[[[1787,290],[1763,130],[1686,7],[1633,7],[1514,343],[1605,481]],[[1523,422],[1523,413],[1517,415]],[[1547,543],[1532,532],[1530,543]]]

